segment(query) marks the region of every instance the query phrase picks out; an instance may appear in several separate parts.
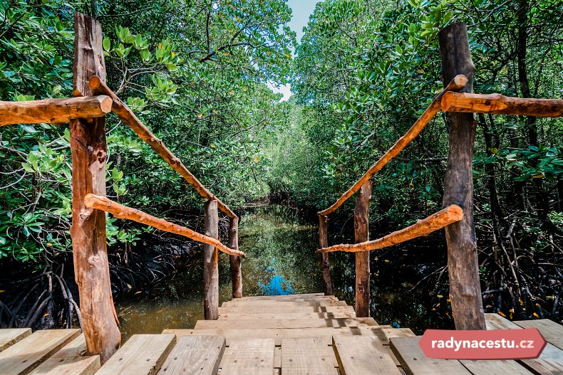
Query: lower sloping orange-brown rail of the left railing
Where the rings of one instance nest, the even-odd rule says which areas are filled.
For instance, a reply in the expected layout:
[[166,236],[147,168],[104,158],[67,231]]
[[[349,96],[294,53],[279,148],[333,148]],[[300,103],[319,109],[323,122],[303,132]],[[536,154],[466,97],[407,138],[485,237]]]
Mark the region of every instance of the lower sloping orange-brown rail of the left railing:
[[117,202],[112,201],[105,196],[86,194],[86,196],[84,197],[84,206],[86,208],[95,208],[96,210],[109,212],[116,218],[125,218],[131,221],[136,221],[137,223],[142,223],[147,226],[152,226],[153,228],[160,229],[160,231],[175,233],[180,236],[191,238],[192,240],[197,242],[213,245],[223,253],[244,256],[244,253],[242,251],[227,248],[227,246],[223,245],[216,238],[202,235],[200,233],[192,231],[190,228],[185,228],[184,226],[170,223],[170,221],[165,221],[162,218],[155,218],[155,216],[149,215],[148,213],[145,213],[143,211],[139,211],[138,209],[123,206],[123,204],[118,204]]

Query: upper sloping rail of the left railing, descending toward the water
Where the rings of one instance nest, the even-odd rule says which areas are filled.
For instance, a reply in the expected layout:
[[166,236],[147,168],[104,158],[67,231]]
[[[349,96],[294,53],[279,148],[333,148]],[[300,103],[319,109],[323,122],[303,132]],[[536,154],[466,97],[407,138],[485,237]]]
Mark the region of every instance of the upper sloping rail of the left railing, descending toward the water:
[[231,209],[220,201],[217,196],[213,195],[211,191],[207,190],[205,186],[190,172],[187,170],[182,161],[178,159],[170,149],[168,149],[164,143],[153,134],[148,127],[146,127],[143,122],[141,122],[138,117],[125,105],[115,93],[113,93],[103,79],[100,77],[92,77],[90,79],[90,87],[94,93],[108,95],[113,100],[113,105],[111,107],[115,115],[118,115],[119,119],[128,125],[133,132],[135,132],[140,139],[143,139],[150,147],[152,147],[161,157],[167,162],[172,169],[177,171],[188,184],[192,185],[194,189],[204,198],[210,201],[217,201],[217,206],[221,211],[227,214],[227,216],[234,218],[237,215],[234,214]]

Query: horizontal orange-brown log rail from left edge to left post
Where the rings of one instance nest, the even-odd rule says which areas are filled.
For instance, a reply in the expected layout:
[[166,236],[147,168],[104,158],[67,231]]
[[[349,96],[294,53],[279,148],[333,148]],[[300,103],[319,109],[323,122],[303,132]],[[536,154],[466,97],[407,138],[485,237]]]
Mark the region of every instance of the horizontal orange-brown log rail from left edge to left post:
[[103,117],[111,111],[106,95],[65,99],[0,102],[0,126],[10,124],[62,124],[71,119]]

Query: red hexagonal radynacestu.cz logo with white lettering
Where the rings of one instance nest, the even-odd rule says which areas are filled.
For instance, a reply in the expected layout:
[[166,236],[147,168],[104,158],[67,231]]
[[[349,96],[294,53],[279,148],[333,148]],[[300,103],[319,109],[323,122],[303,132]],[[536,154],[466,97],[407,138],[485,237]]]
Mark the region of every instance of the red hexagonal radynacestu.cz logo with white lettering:
[[546,342],[537,329],[428,329],[420,338],[419,345],[430,358],[530,359],[542,353]]

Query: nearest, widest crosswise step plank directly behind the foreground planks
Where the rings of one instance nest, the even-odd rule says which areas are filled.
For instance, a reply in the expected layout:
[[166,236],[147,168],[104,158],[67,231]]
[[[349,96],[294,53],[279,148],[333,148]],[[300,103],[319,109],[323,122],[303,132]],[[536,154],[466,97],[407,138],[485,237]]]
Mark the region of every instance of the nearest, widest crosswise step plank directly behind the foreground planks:
[[231,339],[246,338],[273,338],[276,345],[282,344],[284,337],[323,337],[326,345],[332,344],[334,334],[347,334],[352,336],[373,336],[371,327],[341,327],[341,328],[261,328],[261,329],[165,329],[162,333],[175,334],[177,337],[194,334],[211,334],[224,336],[227,346],[231,345]]

